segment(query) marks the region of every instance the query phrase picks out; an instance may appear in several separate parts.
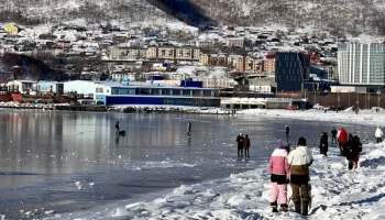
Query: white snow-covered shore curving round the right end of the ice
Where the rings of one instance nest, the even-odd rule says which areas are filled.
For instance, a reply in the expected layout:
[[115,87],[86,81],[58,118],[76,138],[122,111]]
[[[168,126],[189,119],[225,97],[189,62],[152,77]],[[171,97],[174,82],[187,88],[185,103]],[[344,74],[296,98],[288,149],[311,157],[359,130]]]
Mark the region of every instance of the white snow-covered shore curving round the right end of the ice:
[[[209,110],[208,110],[209,111]],[[324,219],[385,219],[385,142],[375,143],[375,128],[385,125],[384,109],[362,110],[358,114],[346,111],[289,111],[245,110],[240,114],[285,118],[293,120],[343,122],[365,124],[373,130],[373,140],[364,140],[359,168],[348,170],[348,162],[338,156],[337,147],[329,147],[328,156],[312,150],[310,166],[311,208],[309,220]],[[337,128],[339,129],[339,128]],[[302,219],[289,204],[286,213],[272,213],[270,207],[271,183],[266,166],[224,179],[195,185],[182,185],[153,200],[124,204],[112,209],[100,208],[90,217],[77,219]],[[288,197],[292,191],[288,187]],[[113,211],[110,211],[113,210]],[[47,219],[67,219],[54,213]],[[69,217],[68,217],[69,219]]]

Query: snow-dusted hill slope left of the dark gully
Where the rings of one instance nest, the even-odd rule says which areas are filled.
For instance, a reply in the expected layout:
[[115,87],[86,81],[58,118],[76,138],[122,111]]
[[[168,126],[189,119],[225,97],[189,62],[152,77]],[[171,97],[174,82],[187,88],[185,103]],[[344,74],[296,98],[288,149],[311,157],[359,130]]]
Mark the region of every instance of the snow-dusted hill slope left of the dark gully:
[[173,20],[144,0],[0,1],[0,23],[12,21],[19,24],[44,24],[78,19],[85,19],[89,23]]

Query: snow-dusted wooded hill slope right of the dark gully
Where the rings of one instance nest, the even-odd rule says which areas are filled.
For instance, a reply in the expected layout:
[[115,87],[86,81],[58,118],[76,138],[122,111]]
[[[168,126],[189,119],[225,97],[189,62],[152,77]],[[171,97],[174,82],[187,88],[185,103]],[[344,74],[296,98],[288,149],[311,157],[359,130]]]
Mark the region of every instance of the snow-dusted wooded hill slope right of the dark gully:
[[[191,0],[226,25],[311,26],[336,35],[384,34],[383,0]],[[311,33],[310,33],[311,34]]]

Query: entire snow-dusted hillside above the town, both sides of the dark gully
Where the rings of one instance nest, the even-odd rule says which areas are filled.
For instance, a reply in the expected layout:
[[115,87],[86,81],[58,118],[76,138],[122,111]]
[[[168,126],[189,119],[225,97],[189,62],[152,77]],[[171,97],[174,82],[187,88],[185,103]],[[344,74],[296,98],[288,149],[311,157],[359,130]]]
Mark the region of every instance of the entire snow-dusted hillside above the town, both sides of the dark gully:
[[[3,0],[0,1],[0,23],[61,23],[85,19],[88,23],[118,21],[175,22],[168,14],[188,19],[188,10],[202,12],[218,24],[245,26],[283,26],[288,30],[307,28],[309,34],[326,31],[344,36],[365,33],[385,34],[384,0],[172,0],[174,8],[160,10],[164,1],[145,0]],[[172,3],[169,3],[172,2]],[[155,7],[155,6],[157,7]],[[189,6],[188,9],[177,6]],[[197,8],[190,7],[197,6]],[[185,12],[170,12],[183,8]],[[186,8],[186,7],[185,7]],[[187,12],[186,12],[187,10]]]

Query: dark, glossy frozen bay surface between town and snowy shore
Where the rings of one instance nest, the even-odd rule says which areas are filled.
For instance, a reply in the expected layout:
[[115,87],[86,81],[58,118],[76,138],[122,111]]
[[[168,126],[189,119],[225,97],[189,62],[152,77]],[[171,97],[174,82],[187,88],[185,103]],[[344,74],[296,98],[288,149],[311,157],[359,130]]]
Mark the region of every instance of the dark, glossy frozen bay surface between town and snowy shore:
[[[224,178],[266,166],[272,150],[299,135],[318,146],[322,130],[341,124],[260,117],[121,114],[0,109],[0,215],[42,217]],[[114,123],[125,136],[117,136]],[[193,123],[187,136],[187,122]],[[372,138],[373,129],[343,124]],[[251,157],[237,156],[238,133],[251,138]],[[23,211],[21,211],[23,210]]]

